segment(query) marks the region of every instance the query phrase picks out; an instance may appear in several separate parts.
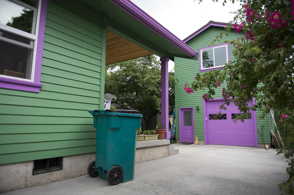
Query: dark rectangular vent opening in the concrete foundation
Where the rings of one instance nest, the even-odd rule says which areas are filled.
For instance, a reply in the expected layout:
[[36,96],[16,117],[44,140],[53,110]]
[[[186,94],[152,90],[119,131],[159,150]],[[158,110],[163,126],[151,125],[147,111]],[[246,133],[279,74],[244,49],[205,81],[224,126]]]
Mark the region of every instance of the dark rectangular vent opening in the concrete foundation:
[[33,175],[59,171],[63,168],[63,157],[34,160]]

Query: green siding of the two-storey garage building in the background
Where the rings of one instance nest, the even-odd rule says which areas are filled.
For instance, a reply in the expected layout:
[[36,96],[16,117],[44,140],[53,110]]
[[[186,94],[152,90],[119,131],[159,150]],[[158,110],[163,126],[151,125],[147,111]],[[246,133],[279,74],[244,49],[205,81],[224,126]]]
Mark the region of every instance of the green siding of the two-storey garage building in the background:
[[[221,30],[223,30],[222,27],[211,26],[189,40],[187,44],[195,51],[198,51],[200,48],[208,47],[208,44],[215,39],[216,35],[219,35]],[[234,30],[231,30],[228,36],[225,36],[219,43],[214,43],[214,45],[223,44],[224,40],[237,40],[237,38],[241,36],[244,36],[244,34],[239,34]],[[235,60],[233,56],[234,49],[235,47],[233,45],[229,45],[230,61]],[[194,107],[194,119],[196,121],[197,138],[200,141],[204,141],[203,101],[201,99],[202,95],[206,93],[206,91],[194,91],[192,94],[188,94],[184,90],[185,83],[192,83],[194,81],[195,75],[200,71],[199,60],[189,60],[175,57],[175,66],[178,66],[175,70],[175,77],[180,80],[180,82],[175,86],[176,121],[179,121],[179,108]],[[203,73],[205,72],[200,72],[200,74]],[[222,97],[223,87],[226,87],[226,85],[223,84],[222,87],[218,87],[216,89],[216,94],[213,96],[213,98]],[[197,111],[196,106],[199,106],[199,111]],[[256,111],[256,116],[258,116],[260,113],[261,109],[258,108]],[[256,122],[259,131],[261,131],[261,125],[265,125],[263,128],[263,140],[265,143],[270,143],[267,118]],[[179,123],[176,123],[176,139],[179,139],[179,136]],[[260,135],[258,135],[258,143],[262,143]]]

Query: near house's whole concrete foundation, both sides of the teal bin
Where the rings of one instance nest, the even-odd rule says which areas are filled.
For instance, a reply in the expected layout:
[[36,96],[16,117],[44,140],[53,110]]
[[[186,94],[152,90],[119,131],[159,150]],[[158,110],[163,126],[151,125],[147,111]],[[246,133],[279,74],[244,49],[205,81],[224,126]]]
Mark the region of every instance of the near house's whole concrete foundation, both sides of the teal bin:
[[[135,163],[178,154],[170,140],[151,140],[136,143]],[[87,167],[95,160],[95,152],[63,157],[63,169],[33,175],[34,161],[0,165],[0,194],[16,189],[47,184],[87,174]]]

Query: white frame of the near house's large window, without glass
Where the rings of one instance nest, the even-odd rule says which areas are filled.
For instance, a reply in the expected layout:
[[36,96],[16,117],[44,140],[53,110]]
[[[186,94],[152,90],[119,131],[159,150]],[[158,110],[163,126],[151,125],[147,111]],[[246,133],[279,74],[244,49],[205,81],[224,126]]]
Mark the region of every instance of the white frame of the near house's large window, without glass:
[[33,18],[33,26],[32,26],[32,33],[27,33],[25,31],[13,28],[11,26],[6,26],[4,24],[0,24],[0,29],[1,30],[5,30],[9,33],[13,33],[15,35],[19,35],[22,36],[24,38],[28,38],[31,39],[31,44],[26,44],[26,43],[21,43],[15,40],[11,40],[5,37],[1,37],[0,36],[0,40],[4,41],[6,43],[10,43],[10,44],[14,44],[14,45],[18,45],[24,48],[28,48],[28,49],[33,49],[33,55],[32,55],[32,60],[31,63],[29,64],[29,66],[27,65],[27,70],[29,70],[29,72],[26,71],[26,74],[30,74],[30,79],[24,79],[24,78],[19,78],[19,77],[12,77],[12,76],[8,76],[8,75],[3,75],[0,74],[0,77],[4,77],[4,78],[10,78],[10,79],[17,79],[17,80],[22,80],[22,81],[29,81],[29,82],[34,82],[34,74],[35,74],[35,63],[36,63],[36,52],[37,52],[37,42],[38,42],[38,30],[39,30],[39,22],[40,22],[40,13],[41,13],[41,4],[42,4],[42,0],[39,0],[38,2],[38,8],[35,8],[33,6],[30,6],[28,4],[25,4],[22,1],[19,0],[9,0],[11,2],[14,2],[16,4],[19,4],[21,6],[24,6],[28,9],[31,9],[34,11],[34,18]]

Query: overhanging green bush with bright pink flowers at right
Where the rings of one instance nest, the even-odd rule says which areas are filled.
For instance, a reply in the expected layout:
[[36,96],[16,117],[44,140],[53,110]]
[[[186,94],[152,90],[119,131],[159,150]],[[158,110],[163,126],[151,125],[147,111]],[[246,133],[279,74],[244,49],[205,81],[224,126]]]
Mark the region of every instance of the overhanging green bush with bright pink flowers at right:
[[[227,41],[236,48],[233,52],[235,60],[218,70],[197,74],[191,88],[186,85],[185,89],[189,93],[208,90],[204,98],[209,100],[215,94],[214,88],[227,82],[227,87],[223,88],[225,103],[220,110],[230,104],[230,97],[242,112],[237,118],[242,121],[250,110],[256,110],[259,105],[263,105],[260,118],[274,109],[282,112],[280,116],[276,115],[280,121],[293,120],[294,0],[240,0],[240,3],[243,4],[242,9],[235,12],[234,20],[213,41],[225,40],[232,28],[239,33],[243,31],[243,38]],[[247,102],[253,97],[255,105],[248,106]],[[293,148],[294,144],[284,148],[286,157],[292,157]],[[284,188],[283,194],[285,191],[294,193],[293,159],[289,165],[289,179],[280,184],[280,189]]]

